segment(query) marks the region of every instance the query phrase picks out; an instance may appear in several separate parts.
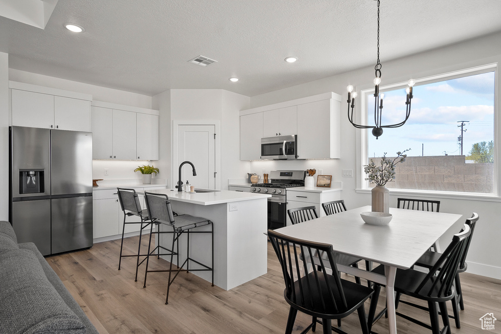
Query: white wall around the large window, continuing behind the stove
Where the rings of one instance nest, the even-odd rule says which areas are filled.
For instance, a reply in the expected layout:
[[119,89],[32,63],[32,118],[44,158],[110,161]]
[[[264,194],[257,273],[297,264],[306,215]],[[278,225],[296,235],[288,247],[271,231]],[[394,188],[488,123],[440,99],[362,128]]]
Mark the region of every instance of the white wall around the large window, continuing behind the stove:
[[[501,33],[498,33],[400,60],[389,62],[383,61],[381,70],[382,85],[405,82],[410,78],[424,78],[431,75],[485,64],[501,63],[500,40]],[[331,91],[341,94],[342,96],[347,96],[346,86],[349,84],[356,87],[360,96],[361,89],[367,89],[372,86],[373,78],[373,67],[367,67],[338,76],[255,96],[250,99],[250,106],[251,108],[260,107]],[[501,105],[501,88],[497,78],[496,93],[495,110],[497,113],[497,106]],[[342,104],[341,110],[346,110],[344,108],[347,108],[346,102]],[[360,113],[360,109],[357,110],[357,113]],[[356,191],[357,179],[359,182],[361,182],[362,179],[362,176],[357,174],[362,168],[360,159],[357,161],[357,152],[359,151],[360,144],[356,144],[360,142],[360,130],[356,130],[350,125],[346,117],[346,112],[342,112],[341,115],[341,138],[343,139],[341,159],[327,161],[252,162],[250,169],[252,172],[262,174],[262,169],[269,171],[270,169],[285,167],[306,169],[316,168],[315,166],[323,166],[324,174],[332,174],[333,180],[340,180],[343,182],[342,197],[346,201],[348,208],[370,205],[370,194]],[[499,133],[499,131],[501,131],[501,117],[496,116],[495,120]],[[385,131],[384,136],[391,136],[391,130]],[[495,177],[501,180],[501,177],[499,177],[499,166],[501,166],[499,163],[501,160],[501,140],[499,140],[498,136],[495,138],[495,142],[497,145],[497,169],[495,169]],[[354,177],[341,177],[341,169],[352,169],[354,171]],[[501,181],[499,183],[501,183]],[[390,205],[393,207],[396,207],[396,197],[397,195],[391,195],[390,192]],[[493,201],[487,199],[473,200],[472,198],[439,199],[441,201],[440,211],[442,212],[460,213],[468,217],[471,215],[471,212],[477,212],[480,215],[468,252],[468,271],[501,279],[501,257],[497,255],[501,251],[498,240],[501,235],[501,224],[499,224],[501,201],[499,199],[493,199]],[[454,230],[449,232],[450,233],[445,235],[441,240],[442,247],[450,240],[452,233],[457,231]]]

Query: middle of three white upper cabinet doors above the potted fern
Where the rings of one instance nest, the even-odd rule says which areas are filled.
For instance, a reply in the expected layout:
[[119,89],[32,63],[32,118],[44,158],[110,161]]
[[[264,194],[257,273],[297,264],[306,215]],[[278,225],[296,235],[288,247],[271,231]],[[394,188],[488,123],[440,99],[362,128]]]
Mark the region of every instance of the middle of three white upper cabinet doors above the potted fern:
[[113,159],[136,160],[136,113],[113,110]]

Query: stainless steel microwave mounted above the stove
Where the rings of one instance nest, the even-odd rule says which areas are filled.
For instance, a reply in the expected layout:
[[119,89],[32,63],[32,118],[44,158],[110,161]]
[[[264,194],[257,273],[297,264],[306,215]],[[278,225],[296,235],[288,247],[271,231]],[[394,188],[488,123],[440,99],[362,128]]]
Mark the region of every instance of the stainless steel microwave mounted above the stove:
[[298,158],[298,135],[261,139],[261,159],[295,160]]

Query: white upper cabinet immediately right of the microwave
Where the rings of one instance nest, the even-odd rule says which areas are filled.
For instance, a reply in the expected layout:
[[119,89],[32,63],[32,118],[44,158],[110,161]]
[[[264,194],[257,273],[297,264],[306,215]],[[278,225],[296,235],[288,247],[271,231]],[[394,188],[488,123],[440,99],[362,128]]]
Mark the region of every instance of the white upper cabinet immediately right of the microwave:
[[298,106],[298,158],[340,157],[340,102],[333,99]]

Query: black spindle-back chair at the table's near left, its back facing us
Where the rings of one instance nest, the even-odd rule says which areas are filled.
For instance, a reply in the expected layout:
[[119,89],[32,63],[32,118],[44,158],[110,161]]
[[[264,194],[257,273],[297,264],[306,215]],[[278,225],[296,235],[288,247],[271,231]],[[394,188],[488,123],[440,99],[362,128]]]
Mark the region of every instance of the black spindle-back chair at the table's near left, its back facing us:
[[[374,290],[340,277],[332,245],[288,237],[274,230],[268,230],[268,237],[282,267],[284,298],[291,306],[286,334],[292,333],[298,310],[312,316],[312,323],[302,333],[315,331],[318,318],[322,319],[324,334],[331,333],[332,319],[344,318],[356,310],[362,332],[369,334],[364,302]],[[312,266],[312,271],[301,270],[316,253],[326,254],[325,259],[319,257],[319,269]],[[332,274],[327,273],[327,264]]]

